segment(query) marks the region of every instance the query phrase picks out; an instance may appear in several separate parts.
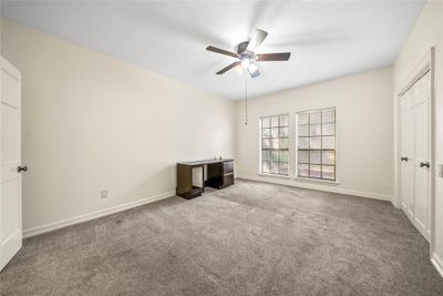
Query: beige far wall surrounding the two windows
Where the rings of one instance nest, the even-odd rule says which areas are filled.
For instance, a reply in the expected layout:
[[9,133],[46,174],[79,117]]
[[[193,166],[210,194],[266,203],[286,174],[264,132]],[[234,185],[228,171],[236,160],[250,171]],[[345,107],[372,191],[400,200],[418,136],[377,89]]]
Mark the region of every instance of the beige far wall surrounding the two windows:
[[[393,194],[392,69],[365,72],[289,90],[237,104],[237,175],[288,185],[337,191],[390,200]],[[290,114],[290,171],[295,176],[295,114],[298,111],[337,108],[337,176],[324,185],[293,178],[258,175],[260,116]]]

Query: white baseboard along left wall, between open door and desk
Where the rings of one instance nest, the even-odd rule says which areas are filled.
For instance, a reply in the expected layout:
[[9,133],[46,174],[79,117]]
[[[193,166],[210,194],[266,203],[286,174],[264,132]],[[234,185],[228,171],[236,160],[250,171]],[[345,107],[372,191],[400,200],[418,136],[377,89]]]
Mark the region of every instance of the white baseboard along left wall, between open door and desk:
[[68,226],[71,226],[71,225],[74,225],[74,224],[79,224],[79,223],[82,223],[82,222],[86,222],[86,221],[90,221],[90,220],[107,216],[107,215],[111,215],[111,214],[114,214],[114,213],[119,213],[119,212],[122,212],[122,211],[125,211],[125,210],[130,210],[130,208],[133,208],[133,207],[136,207],[136,206],[141,206],[141,205],[144,205],[144,204],[148,204],[148,203],[153,203],[153,202],[156,202],[156,201],[161,201],[161,200],[174,196],[174,195],[175,195],[175,192],[174,191],[169,191],[169,192],[165,192],[163,194],[158,194],[158,195],[155,195],[155,196],[145,197],[145,198],[142,198],[142,200],[138,200],[138,201],[135,201],[135,202],[111,206],[111,207],[107,207],[107,208],[104,208],[104,210],[100,210],[100,211],[96,211],[96,212],[93,212],[93,213],[83,214],[83,215],[79,215],[76,217],[61,220],[61,221],[53,222],[53,223],[50,223],[50,224],[45,224],[45,225],[41,225],[41,226],[29,228],[29,229],[24,229],[23,231],[23,238],[35,236],[35,235],[48,233],[48,232],[52,232],[52,231],[55,231],[55,229],[68,227]]

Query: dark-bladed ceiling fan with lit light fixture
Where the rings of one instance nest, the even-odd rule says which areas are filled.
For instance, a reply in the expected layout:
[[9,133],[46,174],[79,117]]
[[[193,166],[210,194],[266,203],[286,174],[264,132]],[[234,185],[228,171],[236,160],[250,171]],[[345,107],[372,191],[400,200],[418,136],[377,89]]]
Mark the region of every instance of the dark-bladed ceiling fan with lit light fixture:
[[216,74],[222,75],[230,69],[241,64],[244,69],[247,69],[251,78],[256,78],[260,74],[258,67],[255,62],[274,62],[274,61],[287,61],[289,60],[290,52],[280,53],[256,53],[257,48],[264,42],[268,32],[255,29],[253,37],[249,41],[241,42],[237,45],[237,53],[228,50],[223,50],[216,47],[207,47],[206,50],[229,55],[236,58],[238,61],[229,64],[228,67],[222,69]]

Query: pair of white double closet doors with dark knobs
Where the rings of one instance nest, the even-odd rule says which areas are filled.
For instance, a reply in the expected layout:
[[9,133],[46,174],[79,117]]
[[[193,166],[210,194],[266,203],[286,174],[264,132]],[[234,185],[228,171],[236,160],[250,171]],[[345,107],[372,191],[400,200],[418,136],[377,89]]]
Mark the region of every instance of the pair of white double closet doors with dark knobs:
[[429,241],[431,237],[430,72],[401,96],[400,108],[402,210]]

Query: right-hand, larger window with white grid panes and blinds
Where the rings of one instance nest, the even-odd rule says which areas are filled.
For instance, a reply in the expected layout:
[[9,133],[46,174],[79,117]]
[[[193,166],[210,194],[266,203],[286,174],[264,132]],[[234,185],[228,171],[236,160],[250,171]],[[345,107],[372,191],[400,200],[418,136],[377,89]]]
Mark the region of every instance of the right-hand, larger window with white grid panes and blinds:
[[336,109],[297,113],[297,176],[336,180]]

